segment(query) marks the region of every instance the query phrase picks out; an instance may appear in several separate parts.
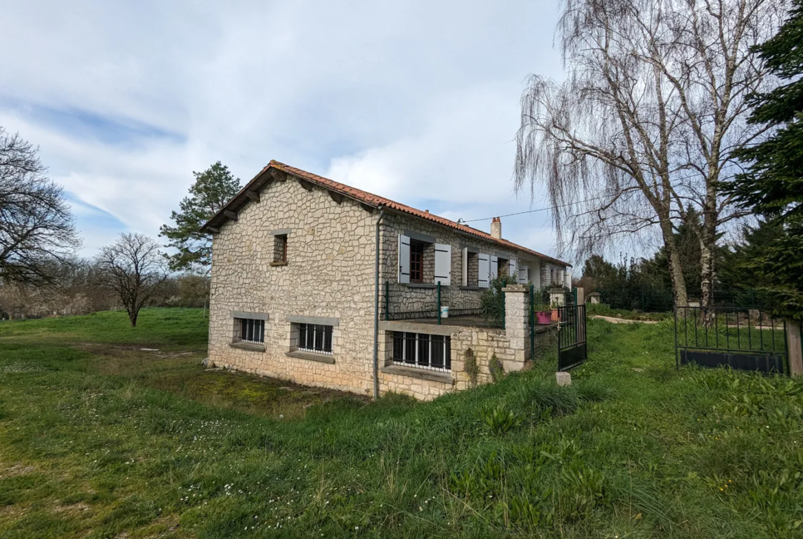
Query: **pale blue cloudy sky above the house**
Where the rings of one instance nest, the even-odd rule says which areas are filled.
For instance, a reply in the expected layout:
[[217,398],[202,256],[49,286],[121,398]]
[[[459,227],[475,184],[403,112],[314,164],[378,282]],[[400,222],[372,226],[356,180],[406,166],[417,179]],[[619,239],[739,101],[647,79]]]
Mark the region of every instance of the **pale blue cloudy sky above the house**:
[[[271,159],[490,230],[558,2],[2,0],[0,125],[39,145],[92,256],[156,236],[202,171]],[[556,255],[548,211],[503,236]]]

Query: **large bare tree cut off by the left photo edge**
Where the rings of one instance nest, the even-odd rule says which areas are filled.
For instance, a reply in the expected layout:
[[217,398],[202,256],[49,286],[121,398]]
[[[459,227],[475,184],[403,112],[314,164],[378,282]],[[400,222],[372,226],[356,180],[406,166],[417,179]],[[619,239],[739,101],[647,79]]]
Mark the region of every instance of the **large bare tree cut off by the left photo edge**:
[[61,187],[39,149],[0,127],[0,279],[42,284],[80,246]]

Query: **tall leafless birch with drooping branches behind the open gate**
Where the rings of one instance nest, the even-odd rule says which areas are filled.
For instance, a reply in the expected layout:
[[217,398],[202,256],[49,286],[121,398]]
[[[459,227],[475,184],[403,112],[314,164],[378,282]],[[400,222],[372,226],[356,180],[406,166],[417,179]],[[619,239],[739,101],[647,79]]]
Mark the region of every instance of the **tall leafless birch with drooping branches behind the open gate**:
[[[588,255],[658,233],[675,304],[687,304],[674,232],[690,209],[711,302],[717,231],[744,215],[717,185],[762,135],[745,98],[772,84],[750,51],[783,0],[565,0],[557,32],[563,84],[532,76],[516,137],[517,190],[543,181],[561,246]],[[691,221],[690,221],[691,223]]]

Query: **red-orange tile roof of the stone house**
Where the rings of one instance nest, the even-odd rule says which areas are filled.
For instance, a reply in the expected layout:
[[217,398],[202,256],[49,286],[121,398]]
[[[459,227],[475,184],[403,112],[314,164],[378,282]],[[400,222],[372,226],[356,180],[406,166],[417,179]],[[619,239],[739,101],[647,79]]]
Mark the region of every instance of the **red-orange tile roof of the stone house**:
[[214,226],[214,224],[216,223],[225,222],[227,218],[223,212],[226,210],[232,210],[234,208],[242,206],[245,200],[248,199],[245,192],[249,190],[249,188],[259,180],[259,178],[262,178],[263,174],[265,174],[268,171],[268,169],[271,168],[281,170],[287,174],[296,176],[297,178],[302,178],[304,180],[307,180],[308,182],[312,182],[321,187],[325,187],[328,190],[332,190],[335,191],[336,193],[343,194],[344,196],[347,196],[349,198],[353,198],[354,200],[357,200],[357,202],[368,204],[369,206],[374,206],[374,207],[384,206],[385,208],[389,208],[391,210],[396,210],[405,214],[413,215],[414,217],[426,219],[427,221],[430,221],[432,223],[437,223],[439,225],[442,225],[443,227],[453,228],[454,230],[474,235],[478,238],[485,239],[493,243],[497,243],[499,245],[502,245],[509,249],[513,249],[515,251],[523,251],[525,253],[528,253],[529,255],[536,256],[548,262],[557,263],[560,264],[561,266],[571,266],[571,264],[566,263],[562,260],[552,258],[551,256],[544,255],[538,251],[532,251],[532,249],[528,249],[527,247],[522,247],[520,245],[517,245],[516,243],[509,242],[506,239],[496,239],[490,234],[487,234],[487,232],[479,231],[476,228],[468,227],[467,225],[461,223],[456,223],[445,217],[441,217],[435,214],[430,214],[428,211],[417,210],[414,207],[407,206],[406,204],[402,204],[400,202],[395,202],[393,200],[390,200],[389,198],[380,197],[376,194],[372,194],[367,191],[357,189],[356,187],[347,186],[343,183],[335,182],[328,178],[324,178],[323,176],[312,174],[310,172],[307,172],[306,170],[296,169],[296,167],[285,165],[283,163],[280,163],[279,161],[272,161],[272,160],[270,163],[267,164],[265,168],[263,168],[259,172],[259,174],[257,174],[254,177],[254,179],[251,180],[251,182],[248,182],[247,186],[243,187],[243,190],[240,190],[240,192],[236,196],[234,196],[234,198],[232,198],[228,204],[226,204],[226,207],[223,208],[223,210],[220,210],[217,214],[215,214],[214,217],[209,220],[209,223],[206,223],[202,227],[202,230],[205,229],[206,227],[209,227],[210,225]]

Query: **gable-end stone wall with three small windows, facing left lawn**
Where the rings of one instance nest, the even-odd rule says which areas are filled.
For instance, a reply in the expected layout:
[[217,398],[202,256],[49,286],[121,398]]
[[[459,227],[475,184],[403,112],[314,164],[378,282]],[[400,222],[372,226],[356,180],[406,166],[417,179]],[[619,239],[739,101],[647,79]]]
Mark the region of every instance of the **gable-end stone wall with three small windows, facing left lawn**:
[[[373,260],[377,213],[290,178],[267,186],[214,235],[210,361],[312,386],[373,391]],[[281,230],[279,230],[281,229]],[[272,266],[287,231],[287,265]],[[264,350],[232,347],[232,312],[267,315]],[[287,316],[332,318],[332,356],[289,357]],[[331,362],[333,361],[333,362]]]

